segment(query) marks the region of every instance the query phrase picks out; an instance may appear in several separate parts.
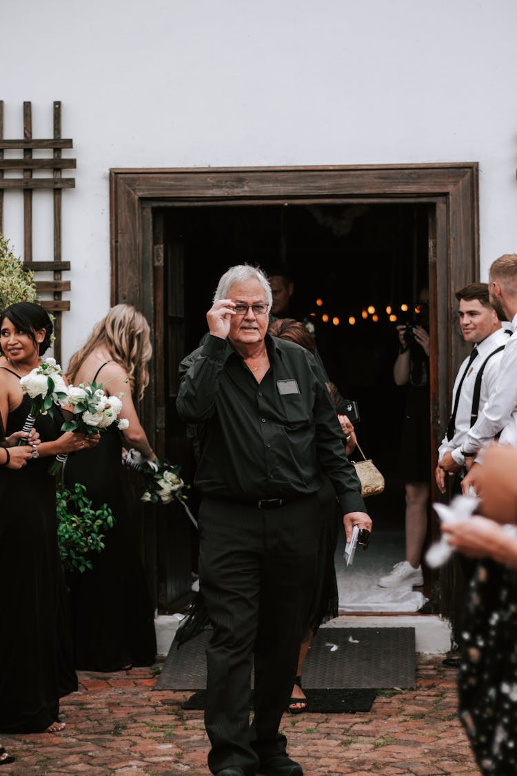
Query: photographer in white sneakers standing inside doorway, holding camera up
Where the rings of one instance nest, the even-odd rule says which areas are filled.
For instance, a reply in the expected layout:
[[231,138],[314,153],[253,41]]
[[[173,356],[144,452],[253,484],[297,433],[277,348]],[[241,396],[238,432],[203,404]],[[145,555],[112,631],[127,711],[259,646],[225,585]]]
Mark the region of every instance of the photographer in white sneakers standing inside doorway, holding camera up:
[[429,289],[419,293],[419,310],[412,322],[397,326],[398,356],[393,377],[407,386],[402,427],[401,469],[405,481],[405,560],[381,577],[379,587],[418,586],[424,582],[420,559],[427,532],[431,468],[429,399]]

